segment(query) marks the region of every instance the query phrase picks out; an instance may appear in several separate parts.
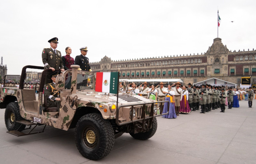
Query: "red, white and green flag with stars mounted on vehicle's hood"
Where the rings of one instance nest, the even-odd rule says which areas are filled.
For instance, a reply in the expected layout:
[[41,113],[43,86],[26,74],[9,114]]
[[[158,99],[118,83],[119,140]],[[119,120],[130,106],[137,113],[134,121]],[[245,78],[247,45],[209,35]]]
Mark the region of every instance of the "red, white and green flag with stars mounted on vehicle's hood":
[[95,91],[117,94],[118,72],[97,72]]

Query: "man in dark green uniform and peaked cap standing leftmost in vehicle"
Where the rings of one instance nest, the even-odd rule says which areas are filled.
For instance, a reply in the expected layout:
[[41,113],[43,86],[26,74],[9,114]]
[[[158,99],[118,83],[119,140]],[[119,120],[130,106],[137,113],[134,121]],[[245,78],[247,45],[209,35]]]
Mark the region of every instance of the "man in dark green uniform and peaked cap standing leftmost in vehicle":
[[61,53],[56,50],[58,46],[58,38],[52,38],[48,40],[48,42],[50,43],[50,48],[44,48],[42,52],[42,60],[45,66],[44,69],[65,71],[61,60]]

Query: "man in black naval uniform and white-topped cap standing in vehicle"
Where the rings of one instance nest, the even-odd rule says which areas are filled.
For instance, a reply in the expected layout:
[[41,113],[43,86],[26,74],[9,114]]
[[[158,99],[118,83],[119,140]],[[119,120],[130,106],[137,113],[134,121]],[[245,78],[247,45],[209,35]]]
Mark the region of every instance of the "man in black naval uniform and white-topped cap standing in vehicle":
[[81,55],[76,56],[75,58],[75,65],[79,65],[80,69],[78,70],[83,70],[83,71],[92,71],[90,64],[89,64],[89,58],[86,57],[87,55],[87,47],[82,47],[80,48]]

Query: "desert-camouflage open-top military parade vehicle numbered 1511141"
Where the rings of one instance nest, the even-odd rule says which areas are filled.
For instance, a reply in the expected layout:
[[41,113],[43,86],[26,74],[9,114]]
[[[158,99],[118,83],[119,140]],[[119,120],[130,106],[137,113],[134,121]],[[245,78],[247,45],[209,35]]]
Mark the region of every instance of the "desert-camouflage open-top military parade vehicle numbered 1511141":
[[[47,107],[47,97],[44,95],[46,77],[53,73],[50,69],[25,66],[19,88],[1,88],[0,108],[5,108],[7,133],[18,137],[42,133],[46,125],[63,130],[75,128],[75,142],[79,152],[88,159],[98,160],[110,153],[114,139],[123,133],[129,133],[138,140],[152,137],[157,130],[156,117],[168,114],[162,113],[160,104],[164,103],[159,104],[139,95],[118,91],[116,94],[96,92],[96,73],[78,71],[77,65],[71,67],[71,70],[56,77],[59,109]],[[26,69],[44,70],[38,98],[34,89],[23,88]],[[158,109],[161,109],[160,114],[157,114]],[[42,126],[40,131],[33,131],[38,126]]]

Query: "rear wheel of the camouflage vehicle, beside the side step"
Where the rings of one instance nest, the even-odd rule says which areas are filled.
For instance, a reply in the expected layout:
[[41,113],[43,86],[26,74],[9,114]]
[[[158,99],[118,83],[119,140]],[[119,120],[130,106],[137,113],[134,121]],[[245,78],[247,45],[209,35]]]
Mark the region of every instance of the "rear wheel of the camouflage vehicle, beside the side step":
[[20,120],[24,120],[24,118],[20,116],[18,102],[10,102],[6,106],[4,113],[4,122],[8,131],[19,129],[18,131],[21,132],[24,130],[26,125],[22,125],[16,122]]

